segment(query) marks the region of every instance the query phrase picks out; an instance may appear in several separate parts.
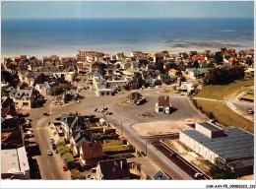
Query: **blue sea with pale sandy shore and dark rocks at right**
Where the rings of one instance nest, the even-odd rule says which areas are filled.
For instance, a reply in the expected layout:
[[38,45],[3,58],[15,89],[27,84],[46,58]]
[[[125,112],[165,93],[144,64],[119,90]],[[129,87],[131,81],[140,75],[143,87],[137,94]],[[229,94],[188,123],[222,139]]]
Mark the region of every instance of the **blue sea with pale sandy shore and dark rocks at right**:
[[218,19],[3,19],[1,57],[57,54],[80,49],[113,55],[133,50],[170,53],[254,48],[253,18]]

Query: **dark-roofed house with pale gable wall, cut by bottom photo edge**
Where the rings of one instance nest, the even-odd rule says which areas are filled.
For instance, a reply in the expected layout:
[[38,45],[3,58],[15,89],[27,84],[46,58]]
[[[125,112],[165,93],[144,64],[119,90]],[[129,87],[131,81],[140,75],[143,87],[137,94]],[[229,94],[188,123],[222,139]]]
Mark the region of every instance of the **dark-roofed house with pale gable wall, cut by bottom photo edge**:
[[96,164],[96,180],[128,180],[130,170],[126,158],[100,160]]

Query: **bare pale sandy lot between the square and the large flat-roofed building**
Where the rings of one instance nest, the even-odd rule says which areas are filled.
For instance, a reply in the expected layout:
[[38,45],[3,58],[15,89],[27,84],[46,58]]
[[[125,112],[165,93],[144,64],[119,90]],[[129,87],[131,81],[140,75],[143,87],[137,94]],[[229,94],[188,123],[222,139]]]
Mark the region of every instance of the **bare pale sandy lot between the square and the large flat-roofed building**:
[[183,121],[157,121],[137,123],[132,128],[143,136],[178,133],[179,131],[191,130],[187,124],[203,121],[203,119],[185,119]]

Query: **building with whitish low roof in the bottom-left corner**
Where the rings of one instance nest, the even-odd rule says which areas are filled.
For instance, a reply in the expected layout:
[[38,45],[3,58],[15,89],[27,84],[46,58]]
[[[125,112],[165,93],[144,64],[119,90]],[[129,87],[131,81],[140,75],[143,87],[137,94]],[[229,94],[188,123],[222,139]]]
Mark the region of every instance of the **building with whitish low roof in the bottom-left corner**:
[[31,179],[25,147],[1,150],[1,179]]

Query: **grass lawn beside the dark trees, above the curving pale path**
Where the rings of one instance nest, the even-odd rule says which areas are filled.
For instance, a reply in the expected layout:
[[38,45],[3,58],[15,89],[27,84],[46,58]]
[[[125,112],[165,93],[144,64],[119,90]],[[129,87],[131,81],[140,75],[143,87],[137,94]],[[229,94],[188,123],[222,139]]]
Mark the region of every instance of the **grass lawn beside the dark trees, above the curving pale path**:
[[254,78],[250,78],[247,80],[236,80],[233,83],[228,85],[211,85],[207,86],[205,89],[199,92],[196,97],[206,97],[206,98],[219,98],[223,99],[224,96],[233,94],[237,91],[243,91],[244,87],[249,87],[254,85]]

